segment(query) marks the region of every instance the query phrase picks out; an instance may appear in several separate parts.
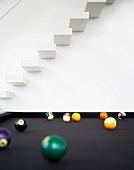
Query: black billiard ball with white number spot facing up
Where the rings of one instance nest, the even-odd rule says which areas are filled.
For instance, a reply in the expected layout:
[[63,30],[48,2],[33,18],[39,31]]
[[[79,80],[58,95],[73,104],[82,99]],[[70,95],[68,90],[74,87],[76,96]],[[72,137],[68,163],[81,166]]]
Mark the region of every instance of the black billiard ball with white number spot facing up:
[[15,128],[16,130],[18,130],[19,132],[23,132],[26,130],[27,128],[27,122],[24,119],[18,119],[15,121]]

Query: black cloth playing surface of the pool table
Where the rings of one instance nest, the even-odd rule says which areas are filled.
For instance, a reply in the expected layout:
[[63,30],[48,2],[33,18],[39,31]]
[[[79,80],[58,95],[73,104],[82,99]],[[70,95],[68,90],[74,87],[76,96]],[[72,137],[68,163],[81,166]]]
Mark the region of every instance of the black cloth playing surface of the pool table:
[[[18,132],[17,116],[0,122],[12,134],[8,148],[0,150],[0,170],[134,170],[134,118],[117,116],[117,128],[107,130],[99,117],[82,116],[80,122],[65,123],[62,116],[26,117],[28,127]],[[67,142],[67,154],[59,162],[49,162],[41,153],[47,135],[60,135]]]

